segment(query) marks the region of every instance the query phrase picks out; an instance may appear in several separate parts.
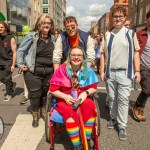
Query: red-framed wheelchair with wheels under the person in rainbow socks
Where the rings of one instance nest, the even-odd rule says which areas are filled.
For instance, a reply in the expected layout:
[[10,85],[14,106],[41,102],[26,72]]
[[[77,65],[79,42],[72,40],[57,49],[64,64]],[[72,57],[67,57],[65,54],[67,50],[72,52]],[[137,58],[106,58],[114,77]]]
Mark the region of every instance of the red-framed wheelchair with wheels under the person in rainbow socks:
[[[93,94],[91,95],[91,99],[95,103],[96,110],[97,110],[97,117],[95,118],[95,122],[93,125],[90,143],[92,143],[93,150],[99,150],[100,110],[97,102],[98,97],[95,97]],[[65,129],[63,118],[55,110],[55,107],[57,107],[56,99],[52,94],[49,94],[47,97],[47,104],[46,104],[45,136],[46,136],[46,141],[50,142],[50,150],[54,150],[55,135]],[[82,139],[81,139],[81,143],[82,143]]]

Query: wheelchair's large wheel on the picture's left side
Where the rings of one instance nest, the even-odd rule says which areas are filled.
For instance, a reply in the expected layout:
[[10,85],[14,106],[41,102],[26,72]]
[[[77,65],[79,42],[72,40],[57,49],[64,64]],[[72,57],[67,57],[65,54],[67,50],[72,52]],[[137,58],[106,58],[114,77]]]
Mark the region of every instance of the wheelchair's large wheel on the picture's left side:
[[49,129],[50,108],[51,108],[51,97],[48,97],[46,102],[46,116],[45,116],[45,136],[47,142],[50,141],[50,129]]

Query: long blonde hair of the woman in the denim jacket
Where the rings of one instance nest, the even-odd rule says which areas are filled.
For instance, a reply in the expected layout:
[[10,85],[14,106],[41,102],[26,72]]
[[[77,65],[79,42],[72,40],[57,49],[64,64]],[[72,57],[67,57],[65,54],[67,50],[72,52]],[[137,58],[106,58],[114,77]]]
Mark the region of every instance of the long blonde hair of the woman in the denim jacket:
[[42,24],[42,22],[45,20],[45,18],[49,18],[50,21],[51,21],[51,29],[49,31],[49,33],[53,34],[54,33],[54,22],[52,20],[52,18],[48,15],[48,14],[42,14],[41,16],[38,17],[36,23],[35,23],[35,26],[34,26],[34,29],[33,31],[38,31],[40,32],[40,26]]

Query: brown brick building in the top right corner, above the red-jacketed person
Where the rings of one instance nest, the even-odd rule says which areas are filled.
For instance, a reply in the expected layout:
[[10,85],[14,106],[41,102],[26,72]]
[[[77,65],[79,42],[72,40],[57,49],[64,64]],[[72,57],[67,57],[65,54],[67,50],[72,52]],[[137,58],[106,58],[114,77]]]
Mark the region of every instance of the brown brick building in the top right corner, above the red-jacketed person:
[[129,0],[128,16],[131,20],[131,27],[137,31],[146,26],[145,16],[150,11],[149,0]]

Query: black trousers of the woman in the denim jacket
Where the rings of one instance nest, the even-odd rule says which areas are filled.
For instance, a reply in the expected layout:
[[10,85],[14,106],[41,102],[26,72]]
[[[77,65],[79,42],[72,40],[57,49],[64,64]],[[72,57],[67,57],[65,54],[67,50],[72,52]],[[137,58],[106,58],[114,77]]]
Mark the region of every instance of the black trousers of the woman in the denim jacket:
[[24,80],[30,93],[31,110],[38,112],[40,107],[46,106],[49,80],[53,74],[53,68],[36,67],[35,72],[24,72]]

